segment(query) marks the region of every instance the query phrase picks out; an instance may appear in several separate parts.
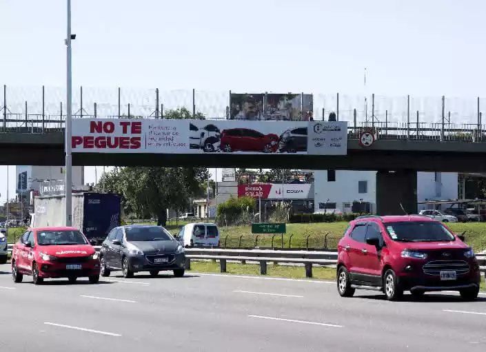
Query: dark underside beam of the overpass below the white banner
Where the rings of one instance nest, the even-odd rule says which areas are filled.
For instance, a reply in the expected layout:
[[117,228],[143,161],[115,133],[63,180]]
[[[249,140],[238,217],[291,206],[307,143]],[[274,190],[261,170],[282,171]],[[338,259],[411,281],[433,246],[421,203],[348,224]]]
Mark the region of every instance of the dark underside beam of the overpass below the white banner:
[[[58,145],[0,145],[0,165],[65,163]],[[411,152],[348,149],[347,156],[296,154],[99,154],[73,153],[73,165],[263,167],[286,169],[414,170],[424,172],[486,172],[486,153]]]

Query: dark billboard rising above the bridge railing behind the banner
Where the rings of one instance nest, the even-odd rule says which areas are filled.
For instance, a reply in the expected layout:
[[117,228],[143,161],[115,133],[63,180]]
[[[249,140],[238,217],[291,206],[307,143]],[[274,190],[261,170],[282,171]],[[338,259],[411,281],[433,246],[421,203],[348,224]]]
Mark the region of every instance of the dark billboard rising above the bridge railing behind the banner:
[[312,94],[232,93],[230,120],[311,121]]

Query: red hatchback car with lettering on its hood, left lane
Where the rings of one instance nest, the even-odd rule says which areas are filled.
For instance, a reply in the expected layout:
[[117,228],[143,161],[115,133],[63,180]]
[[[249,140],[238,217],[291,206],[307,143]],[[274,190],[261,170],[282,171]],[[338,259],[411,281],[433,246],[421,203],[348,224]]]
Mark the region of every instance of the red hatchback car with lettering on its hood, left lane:
[[12,278],[21,282],[32,276],[34,284],[44,278],[89,278],[99,282],[98,253],[81,231],[74,227],[28,229],[12,249]]

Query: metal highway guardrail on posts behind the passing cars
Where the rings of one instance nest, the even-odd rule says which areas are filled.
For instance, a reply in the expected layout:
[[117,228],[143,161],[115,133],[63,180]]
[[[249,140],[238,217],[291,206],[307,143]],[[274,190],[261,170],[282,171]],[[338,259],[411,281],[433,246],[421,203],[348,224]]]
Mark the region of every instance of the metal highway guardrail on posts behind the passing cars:
[[[9,253],[13,244],[8,244]],[[94,246],[97,252],[101,246]],[[260,274],[267,273],[267,262],[303,264],[305,276],[312,278],[312,267],[316,265],[336,265],[338,253],[336,251],[275,251],[273,249],[219,249],[219,248],[188,248],[185,249],[186,269],[191,269],[191,260],[219,260],[221,273],[226,272],[228,260],[245,262],[259,262]],[[476,255],[480,270],[486,272],[486,255]]]

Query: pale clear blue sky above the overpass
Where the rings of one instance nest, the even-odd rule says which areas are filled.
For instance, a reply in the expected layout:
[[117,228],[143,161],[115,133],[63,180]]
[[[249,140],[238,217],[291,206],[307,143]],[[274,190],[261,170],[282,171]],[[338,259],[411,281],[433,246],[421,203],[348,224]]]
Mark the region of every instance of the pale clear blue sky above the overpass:
[[[12,87],[12,109],[38,106],[41,85],[65,87],[65,4],[0,0],[0,84]],[[92,87],[95,101],[116,87],[143,101],[158,87],[474,103],[486,97],[485,10],[482,0],[72,0],[73,87]],[[206,105],[224,99],[200,94]],[[58,100],[63,94],[50,97]],[[1,166],[0,201],[6,172]],[[14,180],[14,166],[9,172]],[[85,180],[94,182],[94,167]]]

